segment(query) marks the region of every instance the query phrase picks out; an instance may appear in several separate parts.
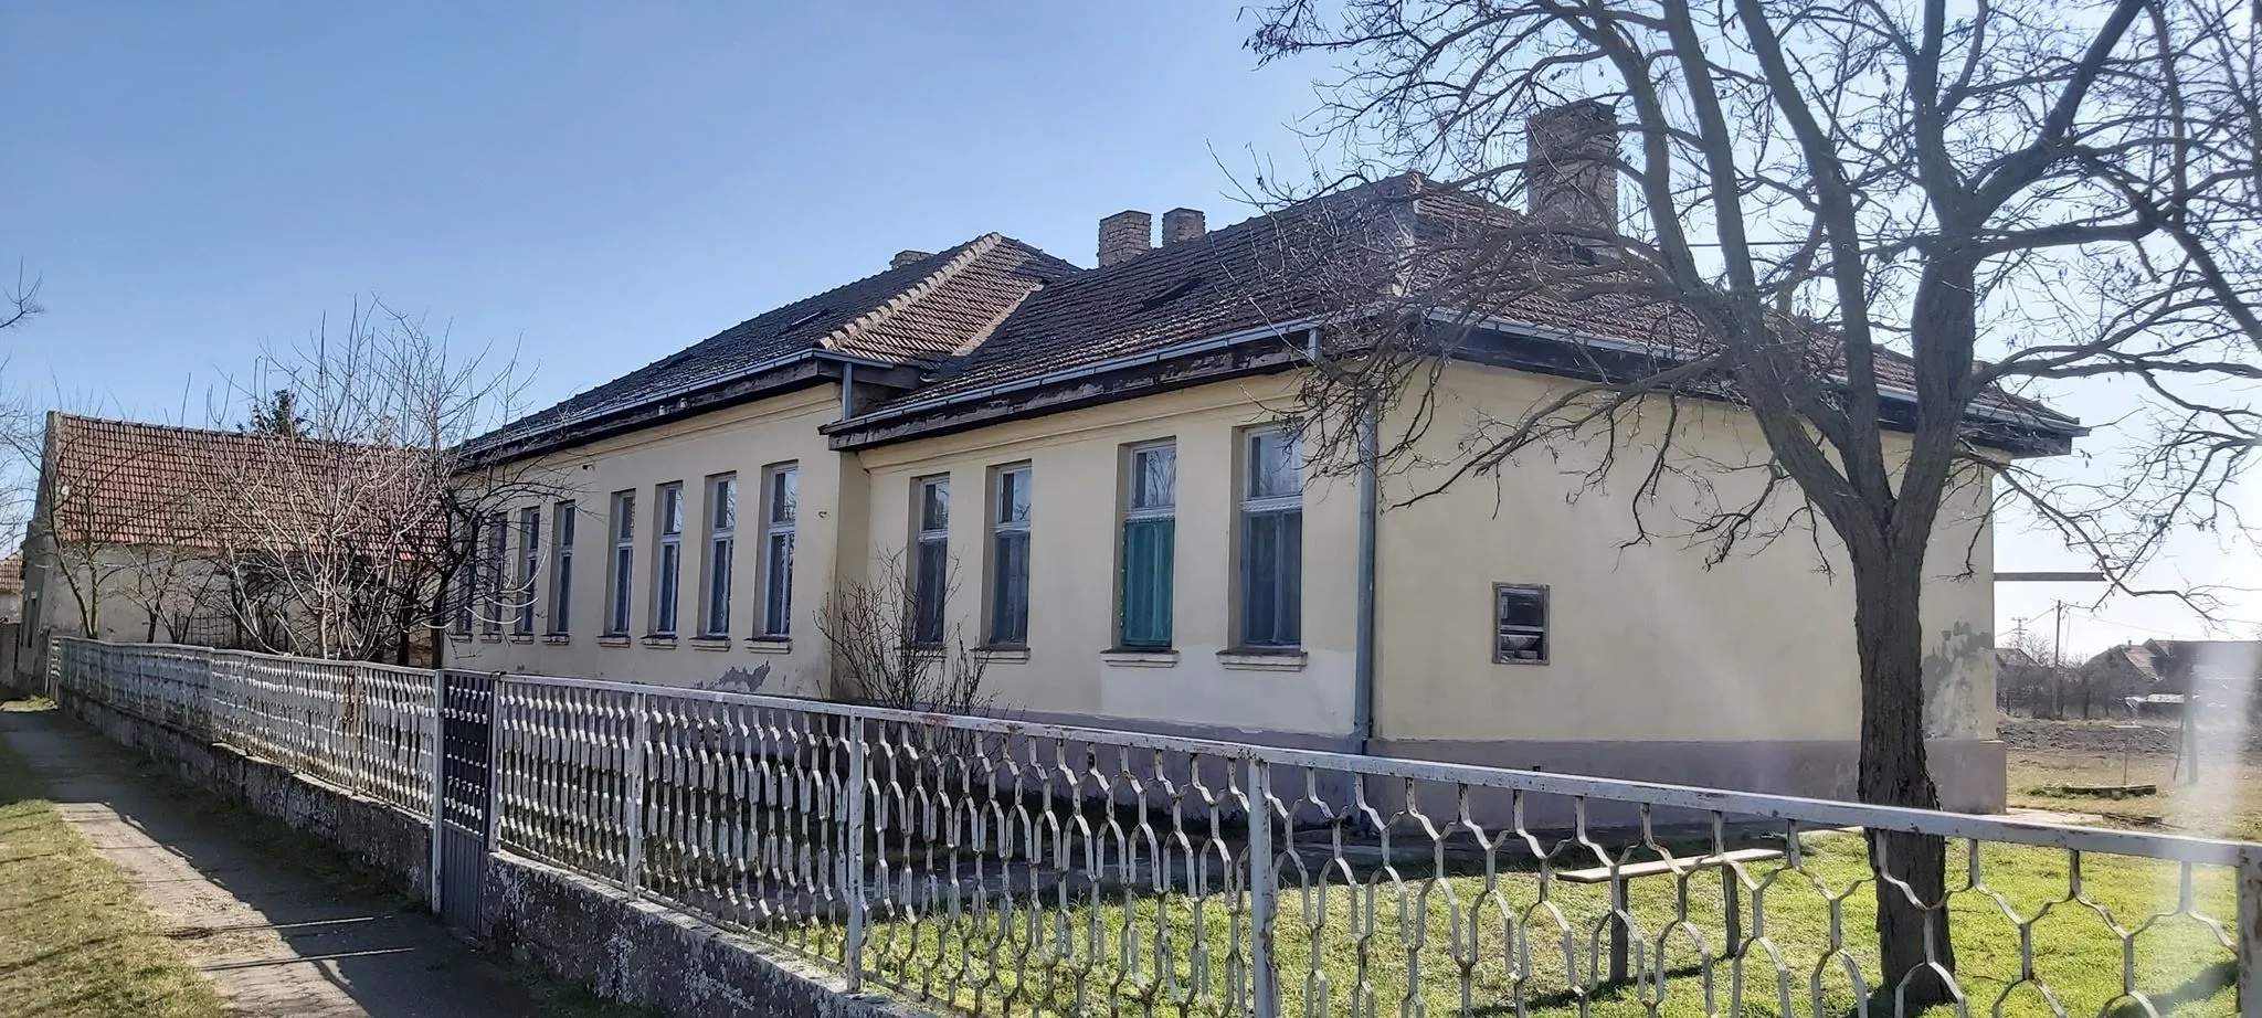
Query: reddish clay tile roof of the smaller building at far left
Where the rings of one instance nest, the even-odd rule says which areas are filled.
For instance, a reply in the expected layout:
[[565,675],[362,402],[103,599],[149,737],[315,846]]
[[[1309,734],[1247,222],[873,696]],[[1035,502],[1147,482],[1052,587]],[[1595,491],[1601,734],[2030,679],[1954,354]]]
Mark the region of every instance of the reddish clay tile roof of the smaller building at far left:
[[[319,491],[308,477],[398,468],[398,457],[421,452],[52,414],[41,484],[59,541],[217,547],[226,538],[222,504],[253,495],[265,529],[290,532],[290,514],[303,504],[292,495]],[[269,489],[267,498],[258,489]],[[308,532],[335,525],[310,516],[317,507],[296,511]]]

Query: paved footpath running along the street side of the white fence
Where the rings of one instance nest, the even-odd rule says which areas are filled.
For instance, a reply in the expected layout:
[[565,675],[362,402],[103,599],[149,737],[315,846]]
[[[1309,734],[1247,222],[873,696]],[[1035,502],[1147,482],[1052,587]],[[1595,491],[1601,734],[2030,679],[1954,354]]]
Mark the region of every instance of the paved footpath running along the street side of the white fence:
[[224,823],[136,783],[129,751],[57,710],[0,710],[0,737],[32,765],[61,814],[131,873],[140,900],[235,1013],[631,1013],[541,1002],[534,986],[432,916],[262,857],[231,830],[215,830]]

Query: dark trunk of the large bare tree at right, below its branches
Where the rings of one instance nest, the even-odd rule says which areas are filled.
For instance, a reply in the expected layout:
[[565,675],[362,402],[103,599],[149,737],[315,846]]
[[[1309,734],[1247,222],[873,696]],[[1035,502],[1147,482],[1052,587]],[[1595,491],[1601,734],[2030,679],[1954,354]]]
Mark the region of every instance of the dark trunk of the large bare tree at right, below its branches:
[[[1875,568],[1855,563],[1855,642],[1862,656],[1864,803],[1939,810],[1941,794],[1925,765],[1923,622],[1916,604],[1923,554],[1889,554]],[[1905,1011],[1950,998],[1954,973],[1948,939],[1948,844],[1936,835],[1868,832],[1877,896],[1877,955],[1884,980],[1871,1013]]]

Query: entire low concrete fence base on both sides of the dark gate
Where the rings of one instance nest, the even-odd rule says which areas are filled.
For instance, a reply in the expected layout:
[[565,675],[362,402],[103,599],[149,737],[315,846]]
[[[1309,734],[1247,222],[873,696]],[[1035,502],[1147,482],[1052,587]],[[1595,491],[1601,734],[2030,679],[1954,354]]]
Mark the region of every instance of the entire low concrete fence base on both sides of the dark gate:
[[[382,873],[412,900],[425,900],[432,830],[423,819],[68,690],[59,706],[113,742],[149,753],[190,787],[314,835]],[[848,993],[837,975],[814,964],[513,855],[489,860],[482,898],[493,948],[606,1000],[699,1018],[927,1013],[889,998]]]

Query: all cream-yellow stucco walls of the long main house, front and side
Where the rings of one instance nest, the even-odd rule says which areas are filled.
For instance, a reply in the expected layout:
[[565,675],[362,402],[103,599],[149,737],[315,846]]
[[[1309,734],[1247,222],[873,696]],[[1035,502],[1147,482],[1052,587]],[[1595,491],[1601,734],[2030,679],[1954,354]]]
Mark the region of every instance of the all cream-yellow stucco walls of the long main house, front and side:
[[[1425,452],[1450,459],[1479,419],[1511,416],[1561,380],[1493,369],[1454,369],[1441,391]],[[1341,735],[1353,717],[1357,498],[1348,480],[1305,471],[1303,633],[1294,670],[1253,670],[1221,656],[1235,642],[1237,437],[1292,405],[1289,376],[1221,382],[961,434],[832,452],[819,425],[837,416],[837,389],[703,414],[647,432],[552,455],[545,468],[581,507],[570,645],[450,640],[466,667],[581,674],[676,685],[823,695],[826,647],[814,613],[835,577],[864,579],[912,541],[918,477],[952,480],[950,550],[957,588],[950,622],[979,642],[988,570],[988,491],[998,466],[1029,464],[1034,486],[1031,609],[1025,661],[986,665],[1002,710],[1149,719],[1215,728]],[[1656,428],[1663,416],[1647,416]],[[1749,416],[1685,405],[1683,455],[1726,504],[1755,473],[1719,466],[1762,459]],[[1111,661],[1124,448],[1172,439],[1176,491],[1176,661],[1156,667]],[[1642,432],[1624,441],[1649,441]],[[1719,566],[1678,541],[1699,486],[1672,480],[1644,507],[1649,545],[1635,534],[1635,473],[1579,493],[1579,473],[1599,448],[1531,450],[1504,475],[1468,477],[1452,491],[1380,518],[1375,735],[1384,740],[1572,740],[1742,742],[1853,740],[1859,695],[1853,656],[1853,593],[1828,534],[1805,529]],[[1622,457],[1638,448],[1622,448]],[[756,482],[765,466],[801,464],[794,640],[789,654],[746,645],[758,604]],[[1626,459],[1635,464],[1635,459]],[[733,581],[733,645],[694,649],[703,480],[737,471],[742,523]],[[1414,493],[1434,471],[1384,477],[1384,502]],[[654,484],[683,482],[683,638],[674,647],[599,647],[608,502],[638,491],[636,636],[649,629]],[[1577,498],[1574,498],[1577,493]],[[1782,502],[1787,511],[1794,502]],[[1927,568],[1925,627],[1936,685],[1934,733],[1993,737],[1991,538],[1984,484],[1963,486],[1943,514]],[[550,516],[543,527],[547,532]],[[516,541],[516,534],[513,534]],[[1963,572],[1966,547],[1979,579]],[[516,563],[516,550],[511,554]],[[1823,563],[1834,572],[1825,572]],[[1547,665],[1502,665],[1491,656],[1495,581],[1549,586]],[[547,590],[547,584],[543,586]],[[545,595],[547,606],[547,595]],[[547,629],[547,615],[536,627]]]

